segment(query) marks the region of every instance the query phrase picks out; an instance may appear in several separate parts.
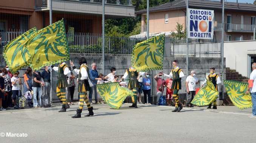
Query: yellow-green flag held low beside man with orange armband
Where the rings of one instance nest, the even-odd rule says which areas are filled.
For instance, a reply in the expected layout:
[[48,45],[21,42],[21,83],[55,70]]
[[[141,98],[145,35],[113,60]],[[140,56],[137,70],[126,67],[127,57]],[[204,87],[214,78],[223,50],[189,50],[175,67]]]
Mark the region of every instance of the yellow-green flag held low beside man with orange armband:
[[224,80],[224,85],[230,100],[236,107],[241,110],[252,107],[253,103],[251,102],[251,95],[250,93],[245,93],[248,89],[248,83]]

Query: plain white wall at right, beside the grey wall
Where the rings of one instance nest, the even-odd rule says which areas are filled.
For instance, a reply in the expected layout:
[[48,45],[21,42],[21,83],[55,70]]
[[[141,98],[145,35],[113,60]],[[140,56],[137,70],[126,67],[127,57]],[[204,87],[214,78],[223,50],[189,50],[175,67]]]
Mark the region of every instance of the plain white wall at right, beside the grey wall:
[[236,69],[239,74],[247,77],[248,55],[256,55],[256,41],[224,42],[224,57],[226,67]]

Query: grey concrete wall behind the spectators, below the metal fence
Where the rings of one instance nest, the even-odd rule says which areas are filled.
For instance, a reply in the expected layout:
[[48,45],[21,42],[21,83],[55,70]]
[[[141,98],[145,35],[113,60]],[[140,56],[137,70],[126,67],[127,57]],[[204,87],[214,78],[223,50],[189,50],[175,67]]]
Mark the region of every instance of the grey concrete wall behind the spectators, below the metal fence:
[[[97,63],[97,70],[100,73],[102,73],[102,57],[96,54],[72,54],[71,55],[71,60],[75,63],[75,65],[77,67],[79,67],[78,65],[78,59],[79,57],[84,56],[87,59],[87,63],[89,65],[89,67],[91,68],[91,63],[92,62],[96,62]],[[175,58],[176,60],[179,61],[179,67],[184,71],[184,73],[186,74],[186,58],[185,57],[177,57]],[[171,70],[171,62],[174,60],[174,57],[164,57],[164,68],[163,68],[163,72],[166,74],[170,73]],[[5,60],[3,59],[3,56],[0,55],[0,67],[5,66]],[[69,63],[69,62],[66,62]],[[217,73],[221,73],[221,58],[193,58],[190,57],[189,58],[189,71],[191,70],[195,70],[196,71],[196,75],[200,80],[204,80],[205,79],[205,73],[209,72],[209,68],[210,67],[215,67],[216,68],[216,72]],[[125,70],[128,69],[131,65],[131,55],[127,54],[127,55],[111,55],[111,54],[106,54],[105,56],[105,75],[110,73],[110,68],[111,67],[115,67],[117,69],[116,75],[120,75],[122,76],[125,73]],[[151,71],[151,80],[154,81],[153,76],[158,74],[160,71],[162,70],[158,70],[158,71]],[[23,76],[25,72],[25,69],[20,70],[20,75],[19,76]],[[57,96],[56,96],[56,77],[57,77],[57,73],[53,72],[53,99],[57,100]],[[224,77],[225,78],[225,77]],[[200,85],[197,85],[198,87]],[[151,87],[153,94],[156,95],[156,82],[154,81],[154,83],[152,84]],[[165,93],[165,92],[164,92]],[[180,90],[180,95],[182,96],[182,98],[185,98],[185,78],[182,80],[182,90]],[[182,94],[183,93],[183,94]],[[78,98],[78,93],[77,93],[77,87],[76,87],[76,91],[75,91],[75,95],[74,95],[74,99]]]

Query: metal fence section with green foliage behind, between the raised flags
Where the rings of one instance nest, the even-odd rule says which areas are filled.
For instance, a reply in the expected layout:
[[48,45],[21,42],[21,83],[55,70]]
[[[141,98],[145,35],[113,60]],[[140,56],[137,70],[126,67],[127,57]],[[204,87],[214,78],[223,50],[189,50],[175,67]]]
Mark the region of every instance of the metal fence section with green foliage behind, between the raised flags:
[[[102,35],[74,33],[67,35],[70,53],[102,53]],[[133,46],[146,39],[145,36],[113,37],[105,36],[106,54],[131,54]]]

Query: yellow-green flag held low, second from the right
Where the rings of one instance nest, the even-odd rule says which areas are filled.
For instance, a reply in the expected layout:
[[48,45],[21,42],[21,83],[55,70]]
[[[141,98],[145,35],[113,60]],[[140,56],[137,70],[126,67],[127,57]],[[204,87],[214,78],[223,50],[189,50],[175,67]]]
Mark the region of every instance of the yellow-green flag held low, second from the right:
[[200,88],[191,103],[199,106],[209,105],[218,98],[218,95],[219,92],[215,89],[213,83],[207,80],[206,85]]

